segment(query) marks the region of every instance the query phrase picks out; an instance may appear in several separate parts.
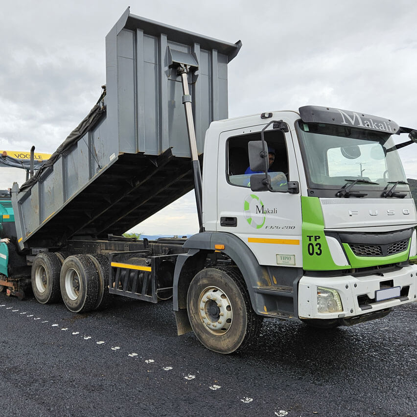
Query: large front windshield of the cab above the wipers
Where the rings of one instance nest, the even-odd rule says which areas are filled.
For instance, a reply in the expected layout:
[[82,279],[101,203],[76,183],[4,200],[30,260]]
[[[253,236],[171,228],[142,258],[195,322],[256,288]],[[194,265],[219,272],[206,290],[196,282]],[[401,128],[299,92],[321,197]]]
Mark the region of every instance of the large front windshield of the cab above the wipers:
[[[301,120],[296,127],[309,188],[340,189],[349,180],[364,180],[354,189],[383,191],[407,182],[390,134]],[[404,184],[395,188],[408,190]]]

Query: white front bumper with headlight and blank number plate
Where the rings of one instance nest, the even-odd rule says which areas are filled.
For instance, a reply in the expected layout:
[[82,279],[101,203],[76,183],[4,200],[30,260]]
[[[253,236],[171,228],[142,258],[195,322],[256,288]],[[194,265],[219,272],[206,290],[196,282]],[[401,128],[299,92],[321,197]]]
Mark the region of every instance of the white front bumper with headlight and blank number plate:
[[[304,275],[300,279],[298,291],[299,317],[300,319],[347,319],[416,301],[416,276],[417,265],[413,264],[405,266],[399,271],[363,277],[353,277],[351,275],[312,277]],[[375,302],[375,291],[384,288],[387,282],[392,282],[393,287],[401,287],[402,296]],[[336,290],[342,301],[343,311],[319,313],[317,311],[317,287]]]

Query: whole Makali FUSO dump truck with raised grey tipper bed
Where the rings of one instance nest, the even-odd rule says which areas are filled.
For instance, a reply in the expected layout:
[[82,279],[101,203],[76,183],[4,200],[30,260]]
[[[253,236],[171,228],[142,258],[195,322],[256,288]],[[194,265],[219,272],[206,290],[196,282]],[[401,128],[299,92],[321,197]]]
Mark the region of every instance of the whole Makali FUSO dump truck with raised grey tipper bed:
[[[231,353],[263,319],[329,329],[416,300],[417,213],[397,150],[417,131],[310,105],[228,119],[240,47],[121,16],[96,105],[12,187],[37,301],[83,313],[112,295],[172,296],[179,335]],[[193,188],[198,233],[122,236]]]

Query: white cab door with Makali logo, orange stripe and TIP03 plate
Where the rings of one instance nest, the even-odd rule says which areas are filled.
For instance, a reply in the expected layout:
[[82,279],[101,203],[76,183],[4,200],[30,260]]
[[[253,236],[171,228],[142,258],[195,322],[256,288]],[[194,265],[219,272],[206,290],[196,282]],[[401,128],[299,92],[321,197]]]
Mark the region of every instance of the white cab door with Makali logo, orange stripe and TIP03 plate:
[[[301,267],[301,194],[289,193],[282,181],[280,186],[277,183],[278,192],[254,192],[250,188],[251,174],[245,174],[249,167],[248,142],[260,140],[264,126],[220,134],[216,229],[238,236],[261,265]],[[283,172],[287,181],[300,183],[291,132],[268,129],[265,140],[275,152],[271,178]]]

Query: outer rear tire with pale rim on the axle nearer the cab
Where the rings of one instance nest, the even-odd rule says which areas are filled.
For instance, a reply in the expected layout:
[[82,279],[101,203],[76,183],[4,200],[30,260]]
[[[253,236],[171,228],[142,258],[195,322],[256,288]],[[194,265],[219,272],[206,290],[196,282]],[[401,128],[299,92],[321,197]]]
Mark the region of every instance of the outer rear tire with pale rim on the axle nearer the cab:
[[71,255],[61,268],[62,299],[73,313],[85,313],[94,308],[99,279],[93,261],[87,255]]

